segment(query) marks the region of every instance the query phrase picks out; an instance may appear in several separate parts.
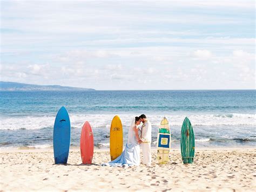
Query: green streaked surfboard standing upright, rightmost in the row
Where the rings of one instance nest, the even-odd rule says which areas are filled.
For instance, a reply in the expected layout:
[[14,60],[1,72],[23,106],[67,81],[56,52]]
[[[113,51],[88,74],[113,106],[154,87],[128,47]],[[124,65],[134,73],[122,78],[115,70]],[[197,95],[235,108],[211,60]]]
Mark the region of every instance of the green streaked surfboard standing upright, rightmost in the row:
[[184,164],[194,161],[194,131],[190,120],[186,117],[183,121],[180,137],[181,157]]

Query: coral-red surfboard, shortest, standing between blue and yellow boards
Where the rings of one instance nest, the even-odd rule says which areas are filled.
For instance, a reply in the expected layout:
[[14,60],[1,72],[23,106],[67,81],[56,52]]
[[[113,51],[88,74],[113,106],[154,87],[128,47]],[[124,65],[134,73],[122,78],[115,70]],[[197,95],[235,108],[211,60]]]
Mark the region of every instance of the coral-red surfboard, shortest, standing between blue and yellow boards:
[[88,121],[84,123],[80,138],[80,152],[83,164],[91,164],[93,156],[93,133]]

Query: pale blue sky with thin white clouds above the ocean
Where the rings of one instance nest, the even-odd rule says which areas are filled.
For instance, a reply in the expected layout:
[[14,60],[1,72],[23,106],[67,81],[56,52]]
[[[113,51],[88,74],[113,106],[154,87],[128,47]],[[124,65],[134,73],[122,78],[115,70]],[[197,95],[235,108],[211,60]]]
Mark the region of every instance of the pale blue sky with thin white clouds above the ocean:
[[0,80],[255,89],[254,9],[246,0],[1,1]]

